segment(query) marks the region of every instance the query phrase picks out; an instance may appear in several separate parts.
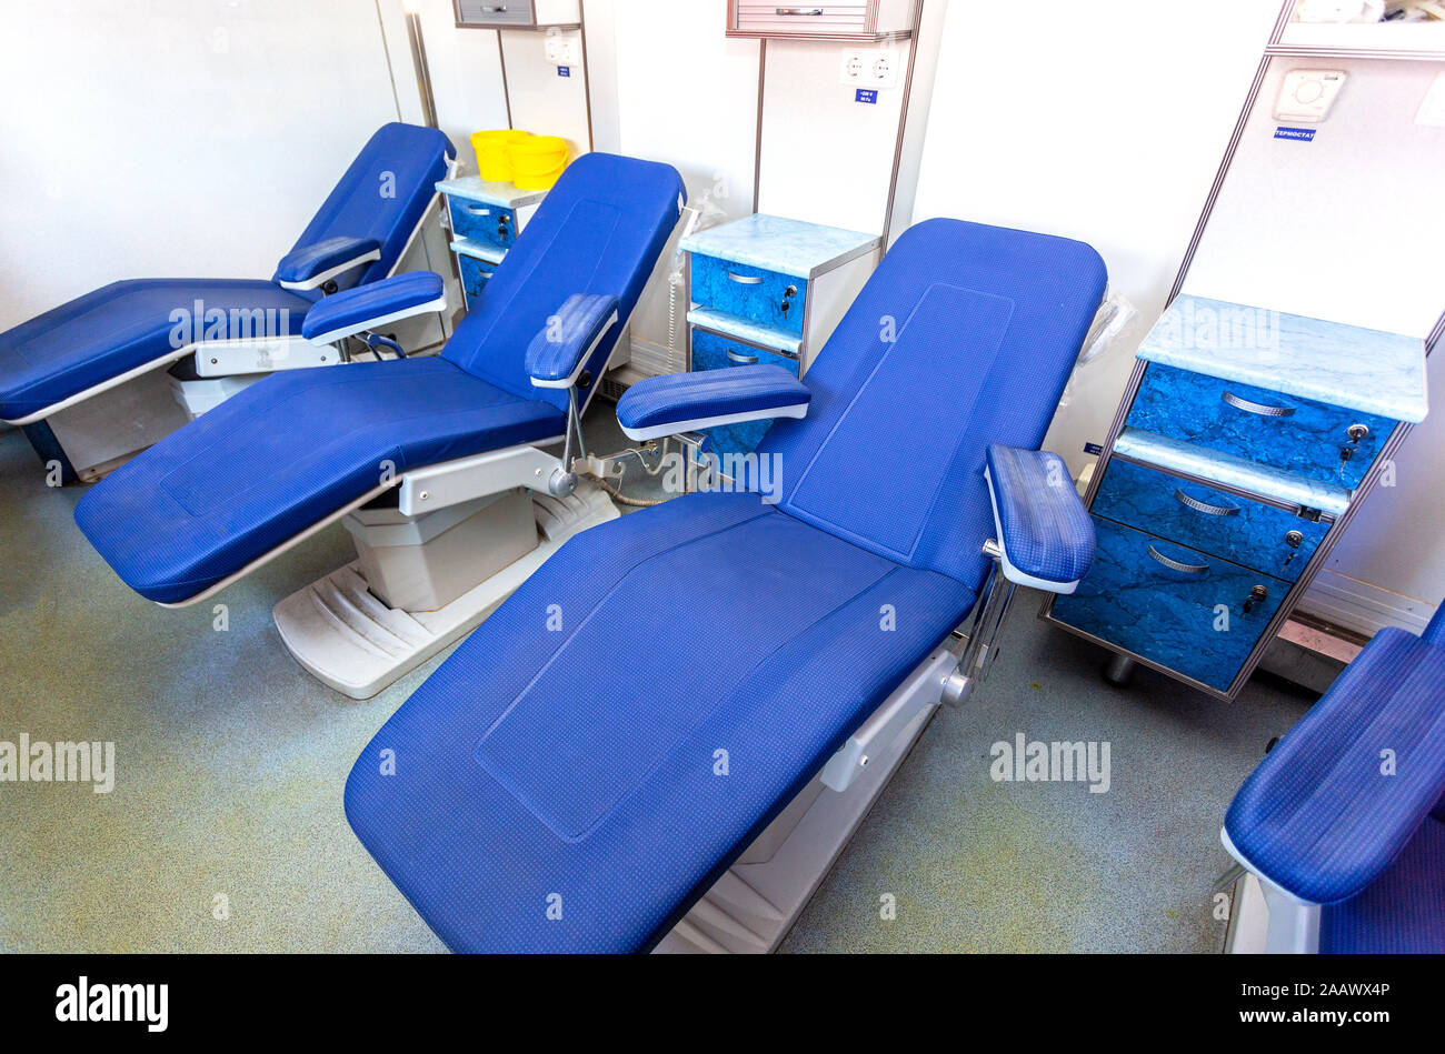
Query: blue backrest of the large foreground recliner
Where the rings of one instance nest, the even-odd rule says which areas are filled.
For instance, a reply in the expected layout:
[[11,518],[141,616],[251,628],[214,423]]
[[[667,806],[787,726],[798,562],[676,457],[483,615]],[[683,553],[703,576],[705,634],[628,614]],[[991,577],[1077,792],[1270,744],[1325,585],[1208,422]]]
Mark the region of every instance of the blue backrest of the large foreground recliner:
[[931,219],[889,250],[805,381],[779,453],[779,508],[977,589],[993,537],[990,443],[1036,450],[1104,297],[1068,238]]

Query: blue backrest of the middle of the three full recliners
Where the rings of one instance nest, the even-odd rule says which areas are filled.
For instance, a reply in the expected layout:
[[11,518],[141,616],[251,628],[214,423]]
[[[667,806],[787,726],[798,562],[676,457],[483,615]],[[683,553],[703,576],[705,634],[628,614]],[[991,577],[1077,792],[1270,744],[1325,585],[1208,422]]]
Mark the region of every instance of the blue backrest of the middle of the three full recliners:
[[532,386],[527,345],[569,296],[616,296],[618,322],[587,364],[600,377],[685,201],[682,176],[670,165],[605,153],[578,157],[542,199],[442,355],[514,396],[566,407],[566,391]]

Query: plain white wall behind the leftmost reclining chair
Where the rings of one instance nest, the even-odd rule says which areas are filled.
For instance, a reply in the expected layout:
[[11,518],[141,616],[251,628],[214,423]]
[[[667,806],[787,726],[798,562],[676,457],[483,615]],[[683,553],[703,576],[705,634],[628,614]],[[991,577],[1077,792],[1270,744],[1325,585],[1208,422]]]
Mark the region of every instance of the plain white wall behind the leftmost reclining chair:
[[45,0],[0,36],[0,328],[126,277],[270,277],[396,120],[357,0]]

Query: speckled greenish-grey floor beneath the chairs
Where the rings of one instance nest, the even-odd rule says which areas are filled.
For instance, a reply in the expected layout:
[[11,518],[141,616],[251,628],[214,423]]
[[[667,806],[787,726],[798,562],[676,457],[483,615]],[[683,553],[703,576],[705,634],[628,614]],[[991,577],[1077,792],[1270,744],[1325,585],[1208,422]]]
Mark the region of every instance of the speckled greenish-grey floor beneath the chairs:
[[[594,449],[611,449],[605,413],[590,417]],[[441,950],[341,810],[357,754],[439,660],[354,702],[302,673],[270,621],[351,557],[344,530],[217,598],[230,618],[217,632],[211,604],[162,609],[116,579],[71,521],[82,492],[48,489],[23,437],[0,432],[0,739],[117,752],[108,796],[0,784],[0,949]],[[1105,689],[1098,653],[1032,608],[1016,608],[993,679],[935,720],[785,950],[1217,946],[1222,810],[1303,703],[1251,689],[1224,706],[1150,674]],[[1113,790],[990,783],[988,745],[1020,731],[1110,739]]]

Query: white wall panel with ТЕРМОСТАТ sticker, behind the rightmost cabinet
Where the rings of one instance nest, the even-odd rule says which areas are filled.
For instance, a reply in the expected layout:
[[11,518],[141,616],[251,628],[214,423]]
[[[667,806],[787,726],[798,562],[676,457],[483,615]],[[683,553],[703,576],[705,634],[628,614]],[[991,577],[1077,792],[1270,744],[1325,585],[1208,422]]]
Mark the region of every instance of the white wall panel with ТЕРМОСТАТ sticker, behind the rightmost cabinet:
[[[1277,140],[1273,103],[1293,68],[1350,74],[1314,141]],[[1445,64],[1274,59],[1185,287],[1208,296],[1425,336],[1445,310],[1445,129],[1415,124]],[[1373,632],[1419,628],[1445,595],[1445,351],[1431,417],[1306,595],[1305,608]]]

